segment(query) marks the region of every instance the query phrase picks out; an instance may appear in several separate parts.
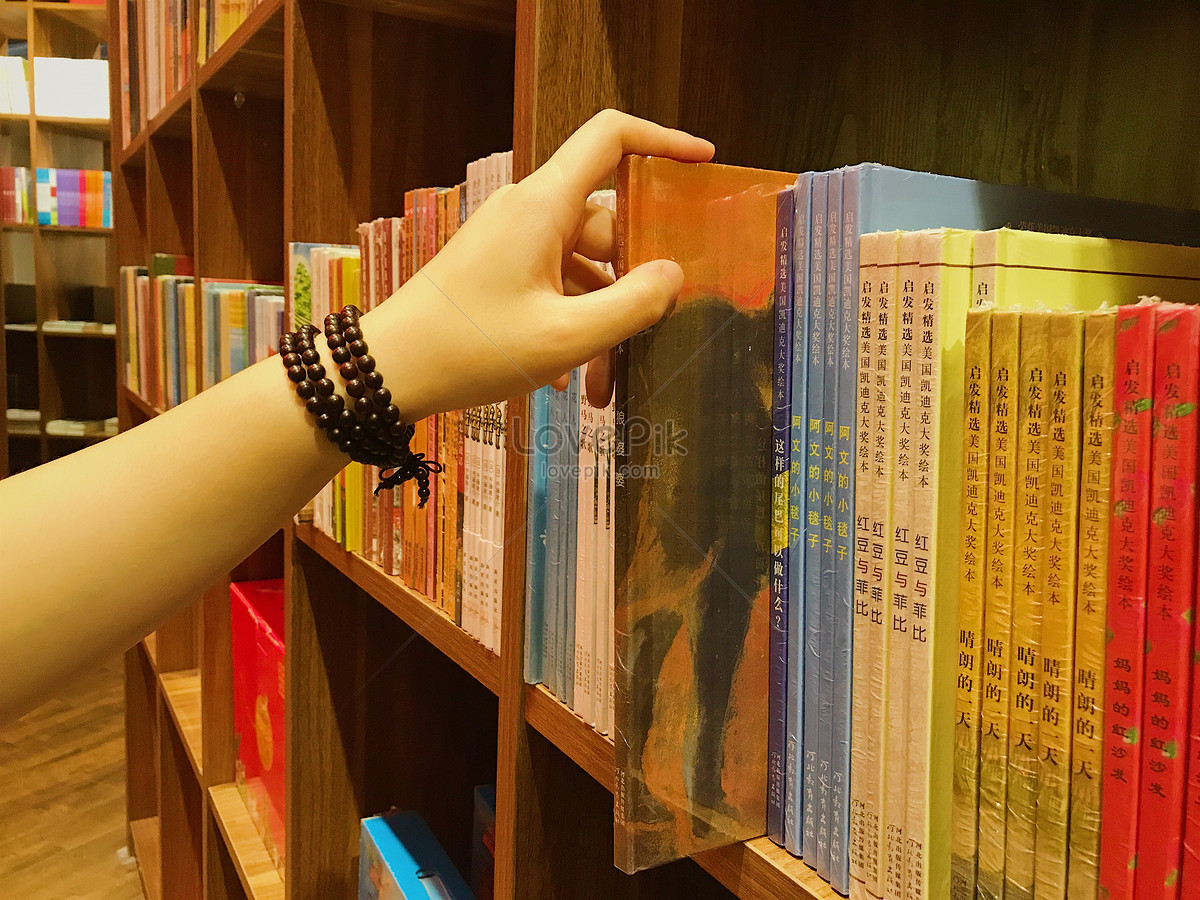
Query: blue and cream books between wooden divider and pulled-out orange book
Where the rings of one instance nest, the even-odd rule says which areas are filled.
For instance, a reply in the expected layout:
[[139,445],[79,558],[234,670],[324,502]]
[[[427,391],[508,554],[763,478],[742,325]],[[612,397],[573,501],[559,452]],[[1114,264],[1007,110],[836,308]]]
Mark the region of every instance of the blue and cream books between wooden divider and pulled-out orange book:
[[[616,208],[614,191],[589,200]],[[611,266],[607,266],[611,274]],[[613,404],[587,398],[587,366],[565,391],[529,397],[526,680],[602,734],[612,728]]]

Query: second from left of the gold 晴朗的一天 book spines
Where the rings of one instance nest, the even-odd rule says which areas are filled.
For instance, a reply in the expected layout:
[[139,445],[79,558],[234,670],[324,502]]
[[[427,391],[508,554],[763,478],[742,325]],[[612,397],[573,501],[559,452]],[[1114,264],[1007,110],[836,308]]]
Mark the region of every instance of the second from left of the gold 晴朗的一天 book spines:
[[[979,239],[976,238],[976,258]],[[977,284],[978,289],[978,284]],[[978,299],[978,294],[977,294]],[[1016,392],[1021,318],[996,310],[989,360],[986,570],[979,707],[979,829],[977,892],[1004,896],[1004,822],[1008,796],[1008,670],[1013,628],[1013,518],[1016,485]]]

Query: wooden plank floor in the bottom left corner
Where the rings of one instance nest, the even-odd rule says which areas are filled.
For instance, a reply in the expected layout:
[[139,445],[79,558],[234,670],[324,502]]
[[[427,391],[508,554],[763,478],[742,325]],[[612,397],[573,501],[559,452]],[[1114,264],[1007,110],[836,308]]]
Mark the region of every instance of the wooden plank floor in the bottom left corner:
[[0,896],[142,900],[125,846],[121,660],[0,731]]

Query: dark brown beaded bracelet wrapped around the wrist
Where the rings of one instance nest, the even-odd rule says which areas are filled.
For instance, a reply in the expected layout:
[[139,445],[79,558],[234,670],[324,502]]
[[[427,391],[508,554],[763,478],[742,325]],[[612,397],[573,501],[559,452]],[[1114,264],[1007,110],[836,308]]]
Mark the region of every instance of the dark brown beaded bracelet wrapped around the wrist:
[[359,314],[358,307],[346,306],[340,313],[325,317],[325,341],[338,364],[352,406],[334,390],[334,382],[320,365],[320,354],[313,346],[319,332],[313,325],[282,335],[280,356],[296,395],[329,442],[354,462],[380,469],[374,492],[416,479],[419,506],[425,506],[430,498],[430,474],[442,472],[442,464],[409,449],[415,427],[400,420],[391,391],[383,386],[383,376],[367,353]]

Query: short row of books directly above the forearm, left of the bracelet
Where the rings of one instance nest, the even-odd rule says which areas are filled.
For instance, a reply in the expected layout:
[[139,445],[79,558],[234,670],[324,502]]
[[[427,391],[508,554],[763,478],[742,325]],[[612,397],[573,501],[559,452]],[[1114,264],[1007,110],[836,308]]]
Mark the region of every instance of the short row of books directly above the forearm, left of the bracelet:
[[276,352],[283,288],[200,280],[192,260],[156,253],[149,268],[120,270],[125,383],[170,409]]

